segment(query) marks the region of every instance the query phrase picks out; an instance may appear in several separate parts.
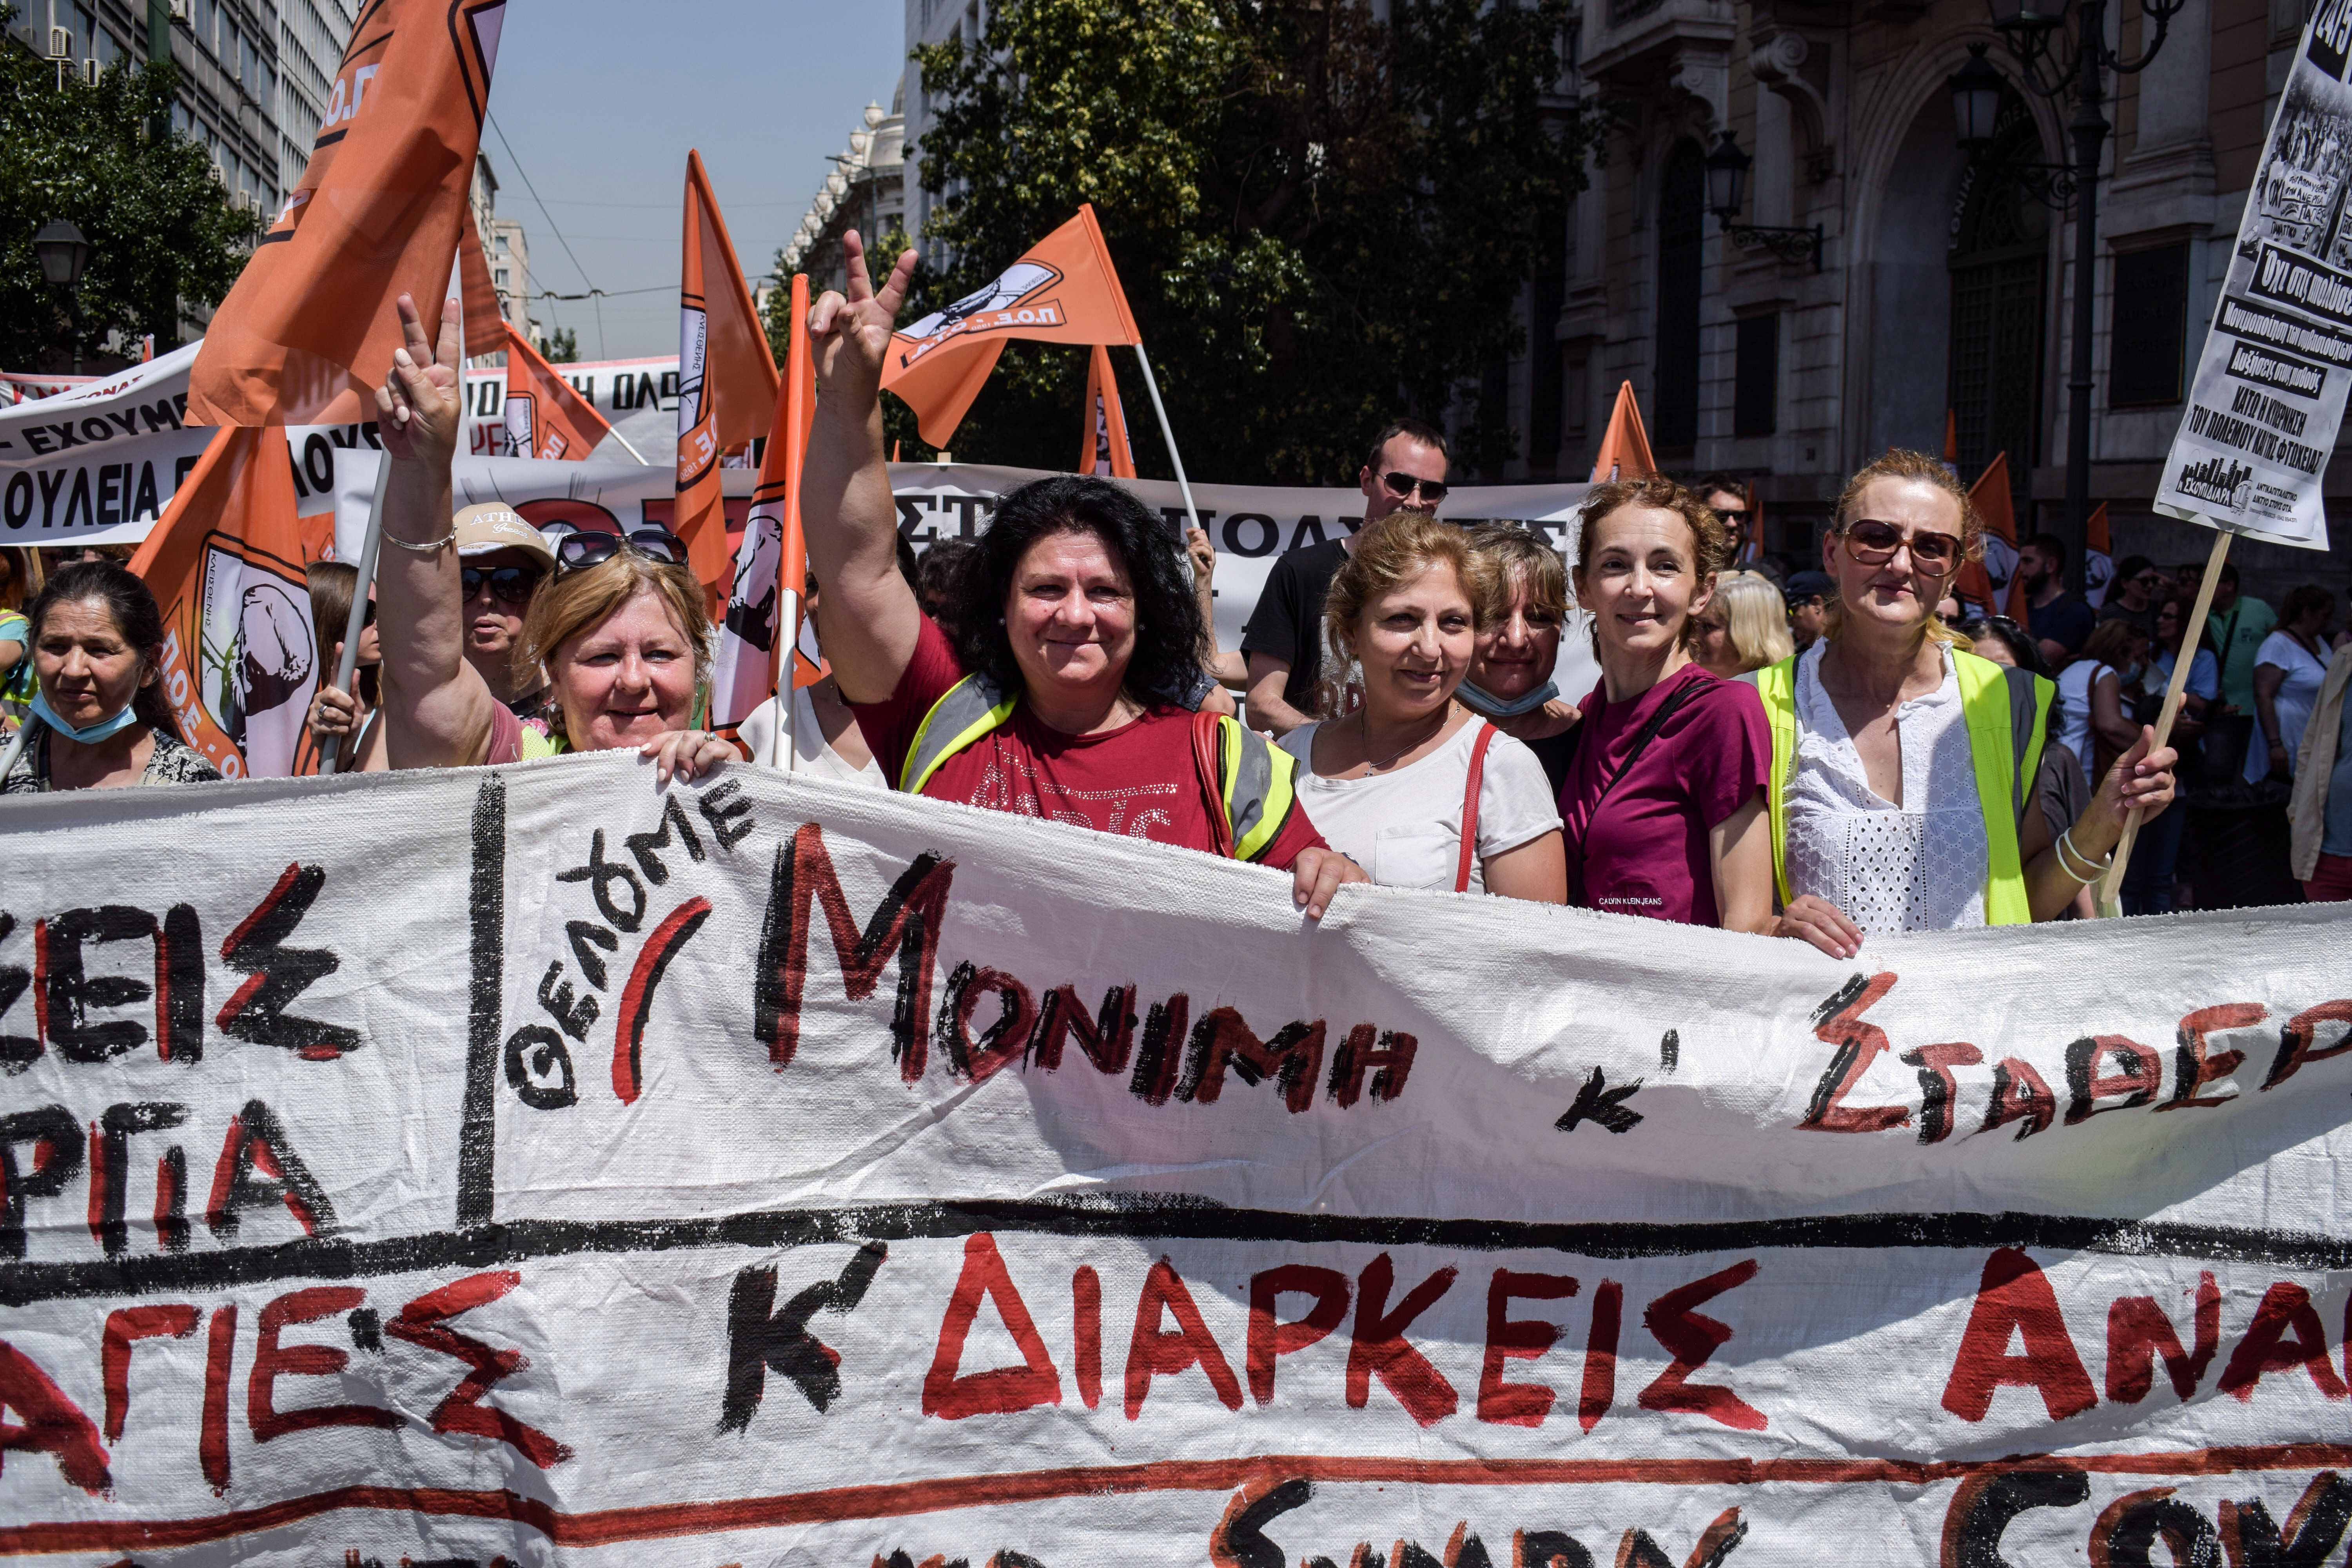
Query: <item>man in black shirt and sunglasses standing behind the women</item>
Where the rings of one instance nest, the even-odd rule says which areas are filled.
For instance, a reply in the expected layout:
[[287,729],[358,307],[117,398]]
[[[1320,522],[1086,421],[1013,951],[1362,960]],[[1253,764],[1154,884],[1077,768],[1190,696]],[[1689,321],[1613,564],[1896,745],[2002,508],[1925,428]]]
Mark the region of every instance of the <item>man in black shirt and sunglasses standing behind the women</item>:
[[[1364,456],[1357,489],[1364,491],[1364,527],[1390,512],[1435,512],[1446,498],[1446,437],[1418,418],[1390,421]],[[1287,736],[1315,719],[1324,597],[1350,555],[1355,555],[1352,529],[1345,538],[1282,555],[1265,574],[1258,607],[1242,628],[1251,726]]]

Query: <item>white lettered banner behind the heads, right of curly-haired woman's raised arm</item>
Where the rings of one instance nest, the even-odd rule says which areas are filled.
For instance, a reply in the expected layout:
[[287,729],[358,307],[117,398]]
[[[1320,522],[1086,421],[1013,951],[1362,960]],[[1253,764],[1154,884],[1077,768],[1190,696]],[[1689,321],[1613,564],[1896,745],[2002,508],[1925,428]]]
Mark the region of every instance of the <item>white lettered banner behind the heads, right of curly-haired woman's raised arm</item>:
[[[934,538],[976,538],[988,527],[995,498],[1016,484],[1044,480],[1030,468],[983,468],[974,463],[891,463],[898,498],[898,536],[917,550]],[[1171,543],[1183,538],[1185,510],[1174,480],[1112,480],[1143,505],[1169,520]],[[1576,541],[1576,515],[1590,484],[1479,484],[1446,491],[1439,515],[1451,522],[1519,522],[1566,550]],[[1272,484],[1192,484],[1200,522],[1216,545],[1216,639],[1242,646],[1242,628],[1258,604],[1275,557],[1345,538],[1364,527],[1359,489],[1282,489]],[[1578,611],[1581,614],[1581,611]],[[1562,656],[1581,658],[1583,635],[1569,628]],[[1571,679],[1562,677],[1569,691]],[[1583,696],[1590,682],[1573,686]]]

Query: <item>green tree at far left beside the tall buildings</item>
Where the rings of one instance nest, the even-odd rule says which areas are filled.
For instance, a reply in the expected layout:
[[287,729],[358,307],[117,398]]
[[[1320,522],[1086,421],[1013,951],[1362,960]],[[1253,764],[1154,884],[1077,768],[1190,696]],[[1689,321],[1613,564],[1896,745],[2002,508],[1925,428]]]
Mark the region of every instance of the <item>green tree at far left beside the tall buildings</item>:
[[169,122],[176,82],[169,63],[118,63],[96,85],[59,87],[54,66],[0,45],[0,364],[71,348],[64,289],[33,254],[52,219],[89,242],[85,355],[113,334],[153,331],[158,350],[176,348],[181,310],[228,294],[263,219],[228,202],[202,143],[148,136],[153,120]]

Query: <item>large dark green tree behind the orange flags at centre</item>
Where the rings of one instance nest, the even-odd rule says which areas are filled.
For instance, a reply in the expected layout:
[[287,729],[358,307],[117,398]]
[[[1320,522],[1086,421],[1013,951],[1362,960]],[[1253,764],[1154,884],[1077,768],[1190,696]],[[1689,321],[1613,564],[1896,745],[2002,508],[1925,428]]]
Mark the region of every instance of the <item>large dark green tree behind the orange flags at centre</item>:
[[[1002,0],[974,47],[915,52],[924,237],[953,256],[915,308],[1094,202],[1195,475],[1345,482],[1399,409],[1451,411],[1458,463],[1491,468],[1512,303],[1599,141],[1559,96],[1566,26],[1569,0]],[[1112,360],[1138,463],[1169,473]],[[1011,343],[955,449],[1068,465],[1082,395],[1077,355]]]

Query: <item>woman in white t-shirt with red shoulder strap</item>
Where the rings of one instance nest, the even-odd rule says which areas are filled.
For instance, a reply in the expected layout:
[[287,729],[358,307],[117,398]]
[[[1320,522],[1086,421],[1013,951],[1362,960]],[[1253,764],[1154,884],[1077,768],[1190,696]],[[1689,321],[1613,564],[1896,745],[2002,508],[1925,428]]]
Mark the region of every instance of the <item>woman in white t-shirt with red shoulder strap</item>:
[[1282,750],[1303,764],[1298,799],[1315,827],[1374,882],[1566,903],[1543,764],[1454,701],[1498,599],[1458,527],[1425,512],[1367,527],[1324,609],[1331,654],[1362,670],[1364,701],[1301,724]]

